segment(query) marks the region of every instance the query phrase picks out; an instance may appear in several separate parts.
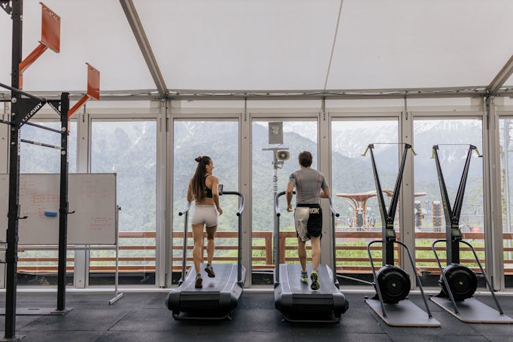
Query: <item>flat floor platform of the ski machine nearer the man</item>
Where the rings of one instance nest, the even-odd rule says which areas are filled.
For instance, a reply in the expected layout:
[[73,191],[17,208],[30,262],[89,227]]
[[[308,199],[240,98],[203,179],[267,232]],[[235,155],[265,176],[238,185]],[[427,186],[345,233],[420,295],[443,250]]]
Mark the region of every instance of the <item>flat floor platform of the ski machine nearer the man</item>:
[[365,302],[389,326],[440,326],[439,321],[428,317],[428,313],[409,300],[402,300],[397,304],[384,303],[386,317],[383,316],[379,300],[365,299]]

